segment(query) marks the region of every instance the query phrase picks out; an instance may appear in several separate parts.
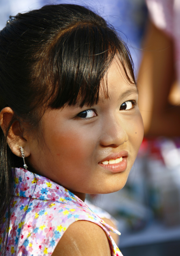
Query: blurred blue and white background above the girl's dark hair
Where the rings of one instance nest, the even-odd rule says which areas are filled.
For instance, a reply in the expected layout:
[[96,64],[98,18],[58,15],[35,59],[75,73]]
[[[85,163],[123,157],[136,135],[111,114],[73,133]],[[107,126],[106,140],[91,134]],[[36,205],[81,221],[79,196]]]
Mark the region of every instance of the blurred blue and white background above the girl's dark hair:
[[89,6],[98,11],[117,30],[125,33],[123,35],[121,32],[120,35],[128,43],[135,67],[138,69],[141,52],[135,48],[140,48],[140,40],[145,23],[146,8],[144,0],[0,0],[0,30],[6,25],[9,15],[40,8],[50,3],[74,3]]

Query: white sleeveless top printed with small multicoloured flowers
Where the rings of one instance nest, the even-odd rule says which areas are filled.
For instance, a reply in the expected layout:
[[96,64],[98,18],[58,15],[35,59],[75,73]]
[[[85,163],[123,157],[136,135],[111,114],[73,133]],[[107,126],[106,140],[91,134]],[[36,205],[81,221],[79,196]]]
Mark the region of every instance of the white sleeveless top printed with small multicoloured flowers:
[[[32,172],[15,168],[7,256],[51,255],[68,226],[77,220],[99,225],[108,237],[111,255],[122,256],[109,231],[120,233],[107,225],[81,199],[48,178],[35,177]],[[4,232],[2,225],[0,245]]]

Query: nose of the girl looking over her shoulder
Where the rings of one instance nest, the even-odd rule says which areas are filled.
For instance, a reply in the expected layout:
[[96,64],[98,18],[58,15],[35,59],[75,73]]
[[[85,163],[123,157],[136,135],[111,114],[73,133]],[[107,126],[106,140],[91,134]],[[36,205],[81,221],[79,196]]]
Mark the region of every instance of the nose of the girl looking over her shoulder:
[[119,116],[104,120],[100,143],[102,146],[118,147],[128,141],[126,125]]

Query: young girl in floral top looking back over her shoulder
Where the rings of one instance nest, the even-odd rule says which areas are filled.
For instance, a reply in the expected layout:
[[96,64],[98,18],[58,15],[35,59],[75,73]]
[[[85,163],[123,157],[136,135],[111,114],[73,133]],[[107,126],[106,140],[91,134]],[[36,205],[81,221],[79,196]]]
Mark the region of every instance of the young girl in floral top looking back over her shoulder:
[[1,255],[122,255],[84,199],[125,185],[143,136],[137,96],[129,51],[99,15],[62,4],[11,17],[0,32]]

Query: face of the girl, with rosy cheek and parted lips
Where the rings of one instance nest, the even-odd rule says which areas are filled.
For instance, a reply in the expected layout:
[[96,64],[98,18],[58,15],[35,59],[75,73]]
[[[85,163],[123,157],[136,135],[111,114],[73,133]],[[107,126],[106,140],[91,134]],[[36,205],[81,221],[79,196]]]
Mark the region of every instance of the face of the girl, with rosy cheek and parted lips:
[[119,66],[114,60],[107,73],[109,99],[100,93],[92,107],[48,109],[41,121],[45,143],[29,137],[28,161],[37,173],[80,198],[123,188],[142,142],[137,88]]

